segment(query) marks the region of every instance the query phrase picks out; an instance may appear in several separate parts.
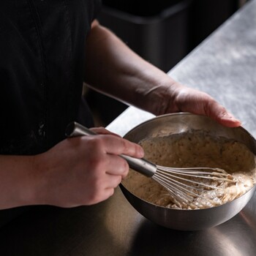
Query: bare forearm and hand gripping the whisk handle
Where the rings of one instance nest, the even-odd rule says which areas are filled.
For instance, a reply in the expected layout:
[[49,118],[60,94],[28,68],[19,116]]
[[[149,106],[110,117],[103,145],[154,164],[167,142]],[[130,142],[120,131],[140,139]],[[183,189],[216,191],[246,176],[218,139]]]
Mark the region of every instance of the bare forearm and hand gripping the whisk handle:
[[118,154],[143,157],[140,146],[105,129],[61,141],[35,156],[0,156],[0,209],[29,205],[74,207],[113,195],[129,170]]

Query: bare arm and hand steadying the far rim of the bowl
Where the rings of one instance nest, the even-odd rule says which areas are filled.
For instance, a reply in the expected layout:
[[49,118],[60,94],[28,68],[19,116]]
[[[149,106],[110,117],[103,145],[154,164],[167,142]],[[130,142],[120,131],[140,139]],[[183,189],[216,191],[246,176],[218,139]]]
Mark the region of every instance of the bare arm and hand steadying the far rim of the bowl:
[[210,116],[228,127],[241,124],[210,95],[173,80],[96,20],[86,44],[86,82],[155,115],[183,111]]

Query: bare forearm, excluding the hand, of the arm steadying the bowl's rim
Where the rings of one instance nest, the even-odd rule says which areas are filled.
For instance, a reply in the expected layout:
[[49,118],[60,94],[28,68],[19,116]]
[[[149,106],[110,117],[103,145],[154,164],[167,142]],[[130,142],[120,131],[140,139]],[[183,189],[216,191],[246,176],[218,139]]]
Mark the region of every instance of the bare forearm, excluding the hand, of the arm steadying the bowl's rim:
[[86,82],[138,108],[164,113],[166,90],[178,84],[143,60],[108,29],[95,26],[86,45]]

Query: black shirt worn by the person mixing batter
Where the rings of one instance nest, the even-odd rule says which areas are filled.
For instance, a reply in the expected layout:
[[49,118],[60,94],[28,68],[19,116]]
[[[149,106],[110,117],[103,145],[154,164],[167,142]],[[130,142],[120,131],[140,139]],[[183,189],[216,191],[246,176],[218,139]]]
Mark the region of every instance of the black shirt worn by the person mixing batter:
[[[0,154],[38,154],[77,120],[100,0],[0,1]],[[91,117],[88,116],[88,126]]]

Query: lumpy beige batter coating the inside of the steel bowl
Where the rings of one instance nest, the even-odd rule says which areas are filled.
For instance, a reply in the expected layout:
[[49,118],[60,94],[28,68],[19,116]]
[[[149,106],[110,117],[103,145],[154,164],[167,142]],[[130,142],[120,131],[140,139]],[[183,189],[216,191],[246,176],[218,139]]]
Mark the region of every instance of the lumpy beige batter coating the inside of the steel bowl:
[[233,183],[202,181],[218,189],[195,191],[192,202],[179,203],[176,197],[156,181],[133,170],[122,182],[137,197],[158,206],[177,209],[200,209],[220,206],[244,195],[256,183],[255,155],[243,143],[214,138],[206,132],[191,131],[176,135],[146,138],[139,143],[145,158],[167,167],[219,167],[233,176]]

